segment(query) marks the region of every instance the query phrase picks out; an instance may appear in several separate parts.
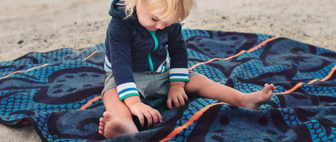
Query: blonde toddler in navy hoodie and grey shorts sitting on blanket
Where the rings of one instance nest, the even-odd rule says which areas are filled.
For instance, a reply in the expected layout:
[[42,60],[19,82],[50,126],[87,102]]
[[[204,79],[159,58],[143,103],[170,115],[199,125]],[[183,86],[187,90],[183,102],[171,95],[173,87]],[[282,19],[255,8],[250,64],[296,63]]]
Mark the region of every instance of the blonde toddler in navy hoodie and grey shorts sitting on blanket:
[[113,0],[101,92],[106,111],[99,119],[99,134],[109,139],[139,132],[132,114],[141,127],[144,117],[148,127],[161,123],[159,111],[142,103],[144,98],[165,97],[169,109],[183,106],[186,93],[248,109],[269,100],[273,84],[245,94],[188,71],[180,22],[195,5],[195,0]]

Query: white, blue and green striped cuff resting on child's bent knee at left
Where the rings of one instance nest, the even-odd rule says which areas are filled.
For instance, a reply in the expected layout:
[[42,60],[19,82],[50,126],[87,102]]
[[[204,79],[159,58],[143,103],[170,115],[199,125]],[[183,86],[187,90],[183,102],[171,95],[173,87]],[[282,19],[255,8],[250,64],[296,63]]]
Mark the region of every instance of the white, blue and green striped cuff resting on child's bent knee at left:
[[120,100],[123,100],[129,96],[140,96],[138,89],[136,89],[136,85],[134,82],[128,82],[128,83],[118,85],[117,91],[118,91]]

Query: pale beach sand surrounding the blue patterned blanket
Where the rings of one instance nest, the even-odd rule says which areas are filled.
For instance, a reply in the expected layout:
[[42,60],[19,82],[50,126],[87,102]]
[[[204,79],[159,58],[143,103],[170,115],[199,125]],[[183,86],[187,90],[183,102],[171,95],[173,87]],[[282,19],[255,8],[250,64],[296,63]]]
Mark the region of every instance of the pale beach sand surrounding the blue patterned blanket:
[[[183,29],[277,35],[336,51],[335,0],[206,0]],[[111,0],[2,0],[0,62],[104,42]],[[18,44],[23,40],[21,44]],[[98,129],[98,128],[97,128]],[[0,141],[41,142],[32,126],[0,124]]]

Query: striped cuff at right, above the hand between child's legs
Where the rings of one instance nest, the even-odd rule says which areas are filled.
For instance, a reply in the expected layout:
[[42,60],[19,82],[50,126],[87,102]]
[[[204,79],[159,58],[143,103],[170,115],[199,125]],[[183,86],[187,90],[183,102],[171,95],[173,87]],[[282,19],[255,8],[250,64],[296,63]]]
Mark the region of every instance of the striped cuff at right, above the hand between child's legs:
[[169,69],[169,75],[169,82],[189,81],[189,72],[187,68],[171,68]]

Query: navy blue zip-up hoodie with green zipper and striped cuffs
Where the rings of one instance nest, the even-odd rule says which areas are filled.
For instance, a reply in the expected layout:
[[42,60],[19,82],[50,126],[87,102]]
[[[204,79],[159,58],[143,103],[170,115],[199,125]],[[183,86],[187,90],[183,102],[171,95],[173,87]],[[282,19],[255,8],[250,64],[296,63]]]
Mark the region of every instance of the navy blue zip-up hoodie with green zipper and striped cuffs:
[[109,11],[104,68],[113,73],[120,99],[139,96],[132,72],[163,73],[169,68],[169,81],[189,81],[181,24],[151,32],[140,25],[136,14],[123,20],[124,6],[116,3],[122,2],[113,0]]

